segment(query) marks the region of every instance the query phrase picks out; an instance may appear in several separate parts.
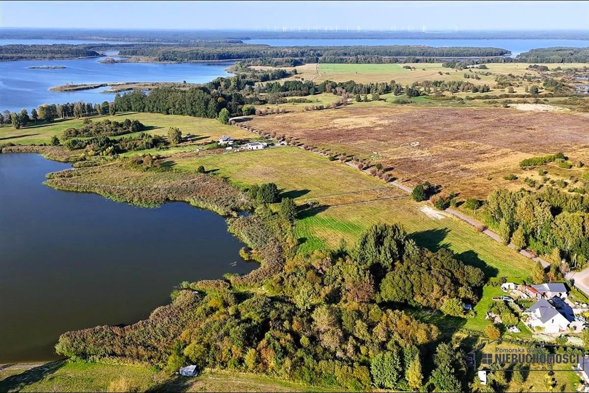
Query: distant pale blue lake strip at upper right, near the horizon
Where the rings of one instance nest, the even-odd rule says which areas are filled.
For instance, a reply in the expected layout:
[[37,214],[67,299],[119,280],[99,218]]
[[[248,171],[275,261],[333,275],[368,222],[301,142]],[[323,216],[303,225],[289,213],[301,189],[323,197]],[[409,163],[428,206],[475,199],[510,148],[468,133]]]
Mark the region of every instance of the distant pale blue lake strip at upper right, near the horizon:
[[515,56],[530,49],[549,47],[589,47],[582,39],[249,39],[248,44],[266,44],[273,47],[302,45],[425,45],[427,47],[490,47],[511,51]]

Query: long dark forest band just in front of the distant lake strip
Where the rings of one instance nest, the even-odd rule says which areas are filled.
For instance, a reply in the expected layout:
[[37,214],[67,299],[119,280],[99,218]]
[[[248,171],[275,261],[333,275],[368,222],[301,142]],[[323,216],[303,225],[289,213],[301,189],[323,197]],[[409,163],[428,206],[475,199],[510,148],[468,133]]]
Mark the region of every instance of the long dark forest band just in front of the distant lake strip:
[[380,64],[396,62],[442,62],[475,58],[481,62],[588,62],[589,48],[531,49],[507,57],[500,48],[426,47],[423,45],[350,45],[272,47],[241,41],[201,41],[191,44],[54,44],[2,45],[0,60],[34,58],[79,58],[98,56],[101,51],[119,50],[122,56],[148,57],[153,61],[226,61],[248,60],[250,65],[292,67],[305,63]]

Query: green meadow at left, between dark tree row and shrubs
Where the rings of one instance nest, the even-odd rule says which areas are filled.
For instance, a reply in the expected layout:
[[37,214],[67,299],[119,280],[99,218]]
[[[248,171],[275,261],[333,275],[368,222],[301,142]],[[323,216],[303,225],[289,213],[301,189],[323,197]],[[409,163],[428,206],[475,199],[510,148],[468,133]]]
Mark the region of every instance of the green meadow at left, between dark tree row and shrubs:
[[[249,138],[251,133],[240,130],[236,127],[224,126],[215,119],[178,116],[178,115],[163,115],[157,113],[118,113],[114,116],[93,116],[90,117],[92,121],[102,120],[117,120],[123,121],[126,118],[130,120],[139,120],[147,127],[150,134],[166,136],[168,128],[178,127],[182,134],[194,134],[200,139],[199,143],[206,141],[219,140],[223,135],[230,134],[234,138]],[[64,130],[70,127],[81,127],[83,119],[65,119],[54,120],[52,123],[31,123],[27,127],[21,127],[16,130],[12,126],[0,127],[0,144],[14,143],[14,144],[41,144],[49,143],[51,137],[57,135],[61,137]]]

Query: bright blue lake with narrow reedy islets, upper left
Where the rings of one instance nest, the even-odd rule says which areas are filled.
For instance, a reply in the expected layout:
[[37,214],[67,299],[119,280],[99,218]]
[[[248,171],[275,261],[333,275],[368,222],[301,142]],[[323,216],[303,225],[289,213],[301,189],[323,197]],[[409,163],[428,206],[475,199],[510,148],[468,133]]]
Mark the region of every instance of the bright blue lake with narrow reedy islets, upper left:
[[[114,63],[103,58],[72,60],[21,60],[0,62],[0,111],[19,111],[42,104],[85,101],[102,103],[114,100],[114,94],[101,93],[110,87],[72,92],[49,91],[65,84],[104,82],[183,82],[206,83],[214,78],[233,75],[224,71],[233,62],[201,63]],[[30,70],[28,67],[62,65],[61,70]]]

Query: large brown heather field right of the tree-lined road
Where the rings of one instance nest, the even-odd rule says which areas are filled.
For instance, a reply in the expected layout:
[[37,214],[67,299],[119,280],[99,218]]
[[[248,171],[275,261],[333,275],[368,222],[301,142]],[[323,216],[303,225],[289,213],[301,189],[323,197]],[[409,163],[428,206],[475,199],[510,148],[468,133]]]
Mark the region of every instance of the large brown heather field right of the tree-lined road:
[[521,173],[518,163],[523,158],[562,151],[574,162],[589,161],[585,113],[350,105],[254,117],[248,124],[333,153],[380,162],[409,185],[428,180],[468,196],[521,187],[521,182],[502,177]]

